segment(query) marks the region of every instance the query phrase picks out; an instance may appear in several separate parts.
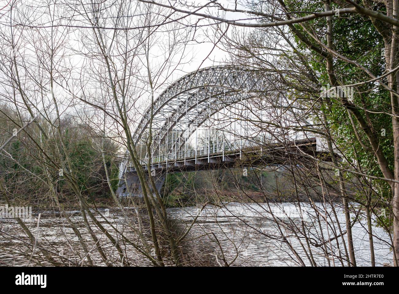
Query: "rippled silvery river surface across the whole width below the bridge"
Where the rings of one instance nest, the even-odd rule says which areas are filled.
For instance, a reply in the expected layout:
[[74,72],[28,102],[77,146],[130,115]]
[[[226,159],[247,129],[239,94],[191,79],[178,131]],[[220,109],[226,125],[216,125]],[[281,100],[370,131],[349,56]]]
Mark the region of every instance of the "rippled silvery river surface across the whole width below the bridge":
[[[292,234],[291,230],[284,227],[283,224],[277,227],[271,214],[280,218],[288,226],[295,226],[300,232],[306,234],[312,243],[312,257],[320,266],[327,266],[328,259],[331,266],[341,266],[341,262],[336,255],[345,255],[341,238],[333,239],[332,242],[326,243],[329,254],[325,256],[322,248],[324,244],[319,244],[319,240],[328,240],[334,236],[334,231],[339,234],[340,228],[336,222],[336,218],[330,211],[326,211],[324,215],[319,215],[320,219],[331,217],[334,226],[327,226],[322,221],[322,226],[314,222],[315,213],[307,204],[303,204],[301,211],[290,203],[283,205],[277,204],[238,204],[229,203],[221,207],[208,205],[204,210],[199,212],[197,207],[188,208],[170,208],[168,209],[169,218],[178,230],[183,231],[192,224],[193,219],[198,216],[192,227],[190,234],[186,237],[186,242],[182,244],[184,252],[195,252],[198,256],[206,254],[215,264],[223,265],[224,259],[227,263],[235,266],[286,266],[300,265],[298,258],[290,250],[289,246],[303,260],[304,264],[310,265],[310,262],[302,249],[307,248],[305,241],[299,242]],[[324,210],[322,210],[324,212]],[[107,213],[109,220],[117,230],[123,230],[124,235],[134,244],[140,245],[139,238],[130,227],[137,225],[134,212],[123,214],[120,211],[110,209]],[[97,219],[105,226],[109,232],[115,230],[107,224],[98,214]],[[342,211],[337,211],[338,222],[341,224],[341,230],[345,231],[345,218]],[[306,227],[301,227],[301,218],[304,220]],[[89,233],[85,230],[83,219],[79,214],[71,214],[71,221],[77,225],[82,232],[83,238],[87,240],[87,247],[92,249],[92,240]],[[329,221],[331,223],[331,221]],[[55,216],[43,216],[40,220],[40,229],[36,231],[36,220],[26,220],[34,234],[37,234],[38,240],[43,246],[50,246],[52,251],[58,251],[63,256],[67,256],[70,260],[79,260],[79,256],[71,248],[77,248],[79,240],[73,232],[71,225],[65,218]],[[365,220],[360,220],[352,228],[354,238],[354,247],[356,254],[356,262],[358,266],[369,266],[369,240],[365,230],[367,224]],[[32,252],[29,239],[24,235],[21,227],[14,219],[0,219],[0,229],[14,238],[4,233],[0,234],[0,265],[28,265],[29,256],[24,252]],[[100,242],[104,244],[104,248],[108,254],[115,254],[112,244],[107,242],[105,235],[97,231],[95,232]],[[286,242],[281,242],[281,234],[286,238]],[[388,264],[391,262],[391,252],[387,241],[389,237],[381,228],[373,228],[375,260],[377,265]],[[117,234],[114,234],[118,238]],[[15,238],[16,237],[16,238]],[[345,235],[346,241],[346,235]],[[290,244],[290,245],[288,245]],[[131,258],[130,265],[150,265],[146,258],[137,251],[134,246],[124,244],[126,255]],[[223,253],[223,254],[222,254]],[[95,255],[95,250],[91,252]],[[101,260],[95,264],[103,265]],[[32,264],[34,265],[34,264]],[[345,263],[346,265],[346,263]]]

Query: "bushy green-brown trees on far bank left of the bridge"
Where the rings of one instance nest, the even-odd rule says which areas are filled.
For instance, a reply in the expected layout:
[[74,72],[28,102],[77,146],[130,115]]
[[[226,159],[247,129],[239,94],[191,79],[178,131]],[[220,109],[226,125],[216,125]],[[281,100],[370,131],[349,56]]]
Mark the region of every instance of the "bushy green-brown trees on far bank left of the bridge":
[[[0,144],[30,120],[29,116],[26,116],[26,121],[18,117],[11,108],[0,106]],[[110,198],[105,166],[115,191],[118,185],[119,160],[115,157],[118,145],[107,137],[103,142],[103,138],[96,135],[97,130],[88,128],[72,116],[61,119],[63,138],[52,130],[55,126],[40,118],[38,120],[46,136],[39,131],[37,124],[31,124],[0,152],[0,177],[10,194],[22,202],[36,198],[40,199],[40,204],[48,204],[52,201],[49,186],[53,186],[60,202],[74,204],[77,199],[71,183],[60,175],[69,170],[65,160],[68,156],[79,189],[89,202],[94,198]],[[61,139],[64,144],[60,144]],[[104,152],[101,152],[102,146]]]

